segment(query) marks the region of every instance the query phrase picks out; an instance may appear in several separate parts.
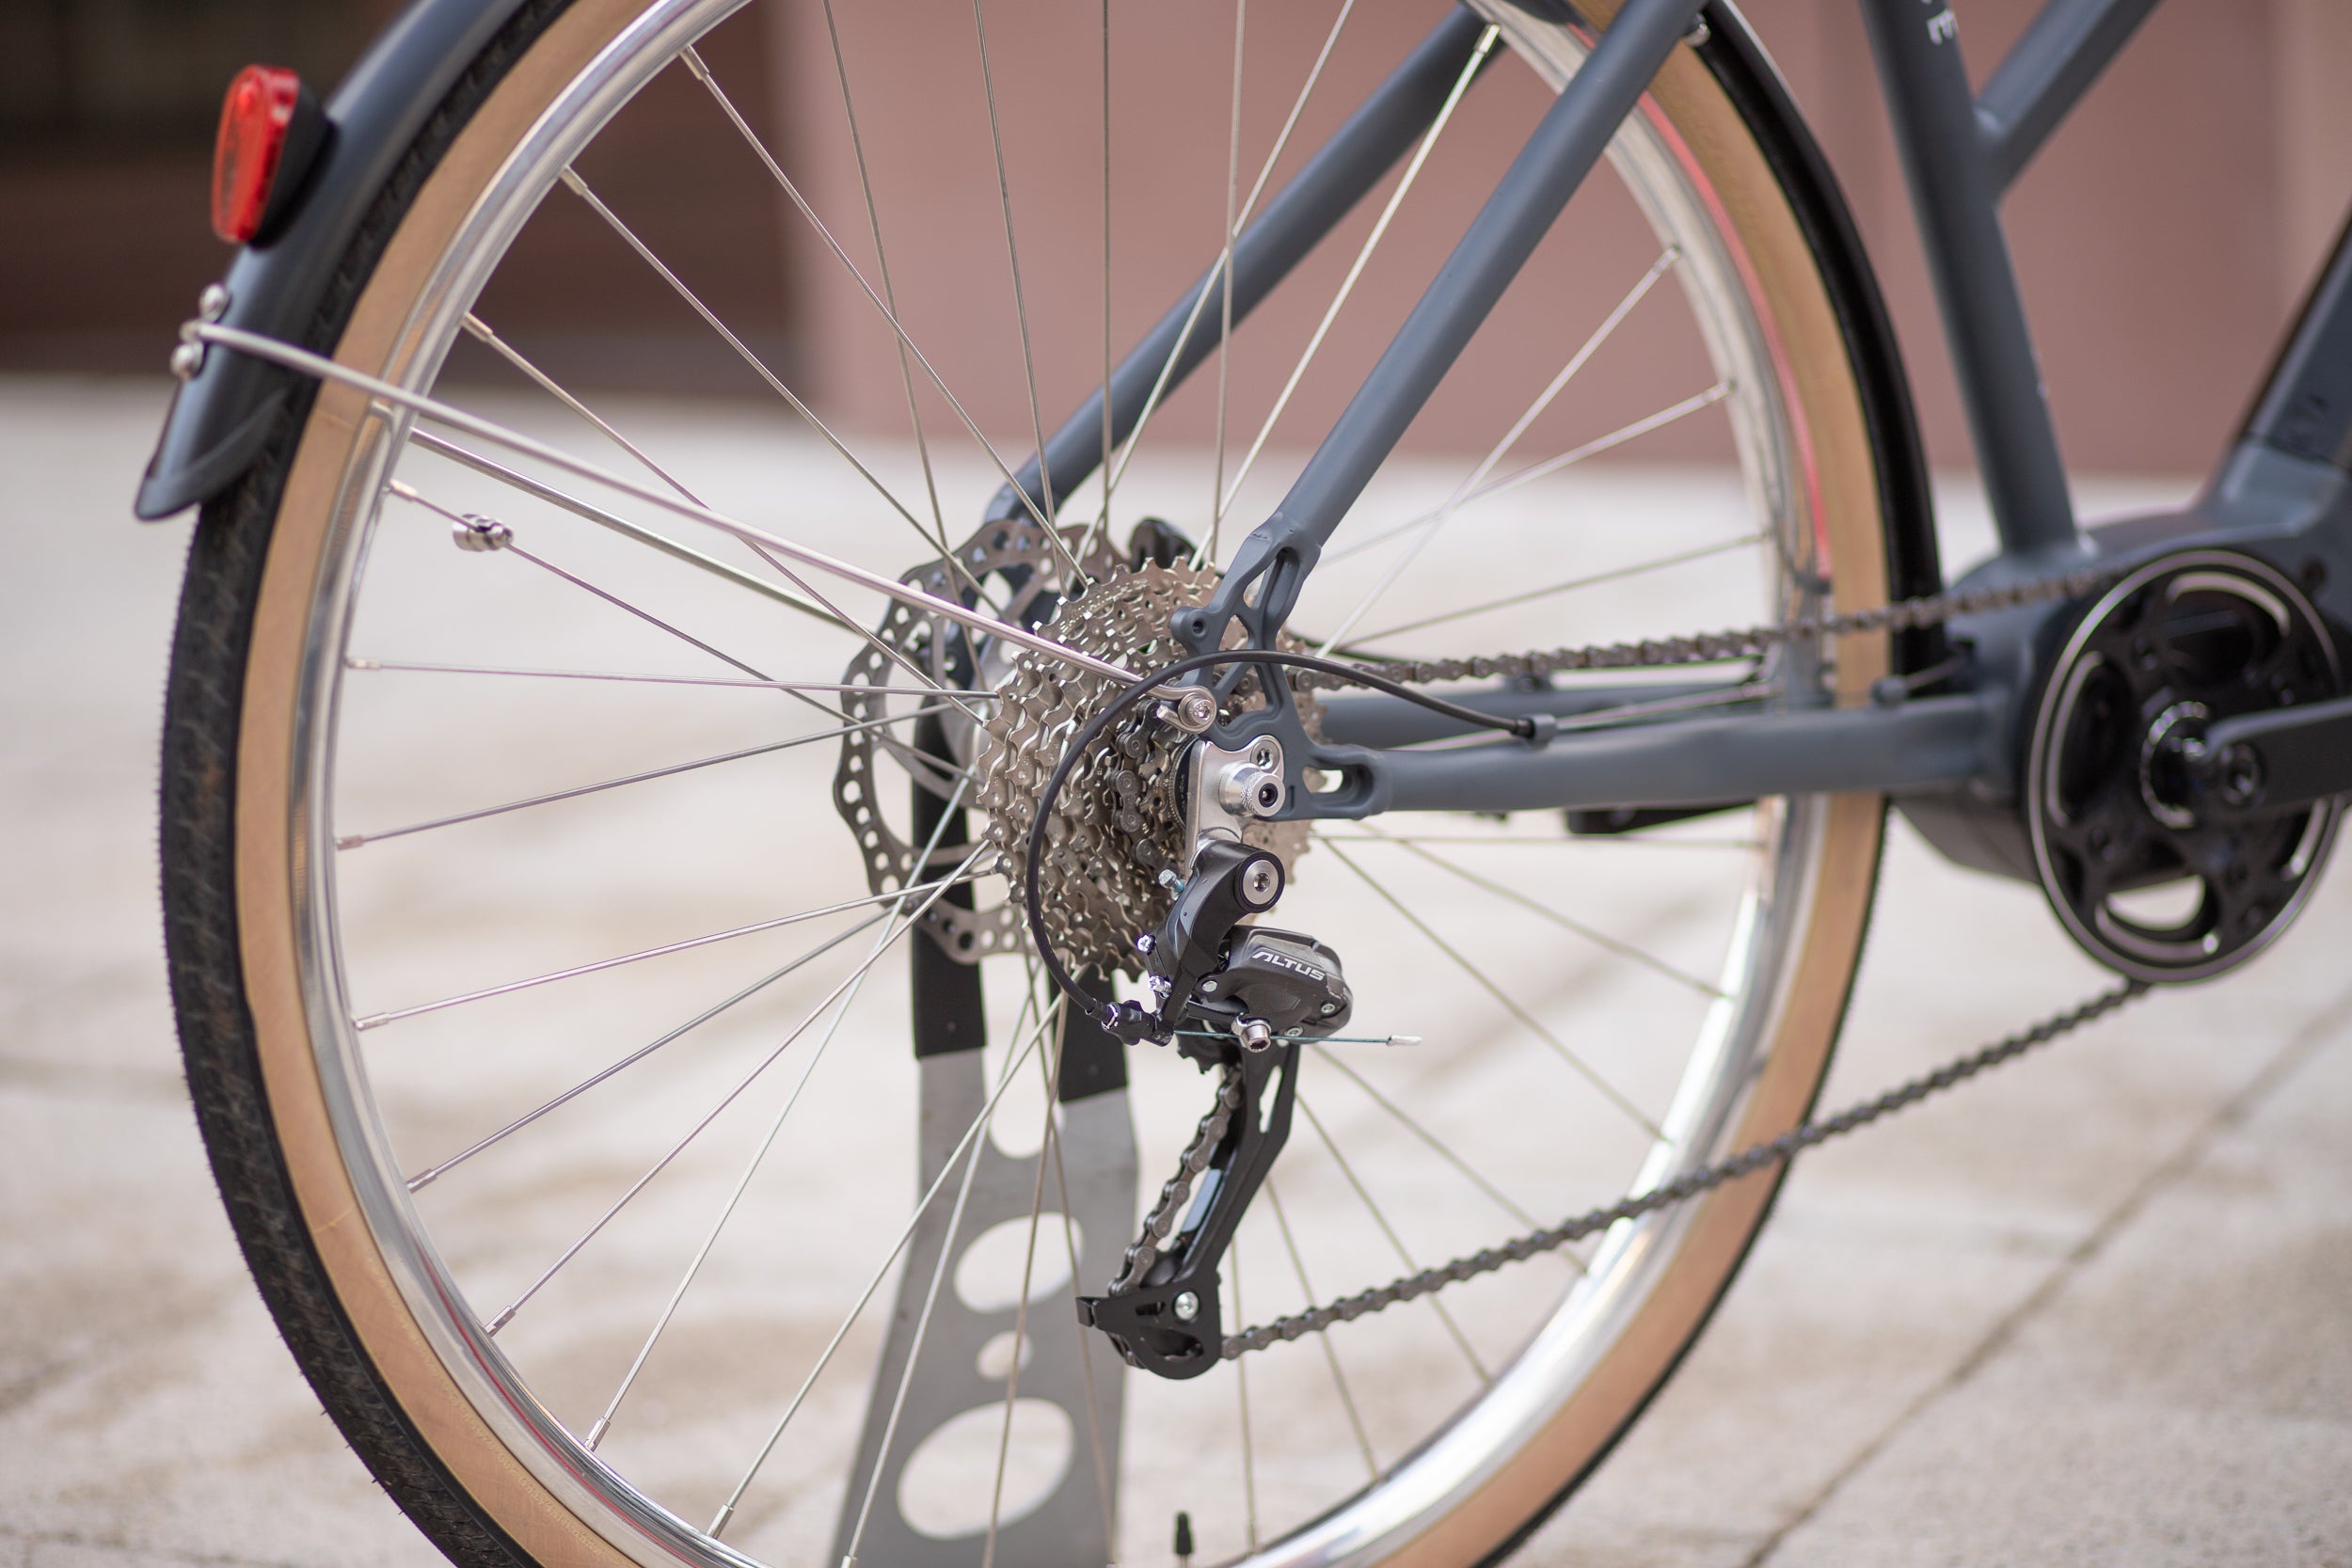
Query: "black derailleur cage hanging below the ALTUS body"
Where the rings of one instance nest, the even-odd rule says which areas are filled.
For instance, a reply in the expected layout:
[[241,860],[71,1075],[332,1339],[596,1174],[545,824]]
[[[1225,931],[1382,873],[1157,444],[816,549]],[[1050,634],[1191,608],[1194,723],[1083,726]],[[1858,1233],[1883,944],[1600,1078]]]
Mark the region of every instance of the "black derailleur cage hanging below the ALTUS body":
[[1077,1321],[1110,1335],[1129,1366],[1162,1378],[1197,1378],[1218,1363],[1225,1331],[1216,1269],[1291,1135],[1298,1044],[1277,1039],[1240,1058],[1242,1103],[1202,1171],[1183,1227],[1131,1291],[1077,1300]]

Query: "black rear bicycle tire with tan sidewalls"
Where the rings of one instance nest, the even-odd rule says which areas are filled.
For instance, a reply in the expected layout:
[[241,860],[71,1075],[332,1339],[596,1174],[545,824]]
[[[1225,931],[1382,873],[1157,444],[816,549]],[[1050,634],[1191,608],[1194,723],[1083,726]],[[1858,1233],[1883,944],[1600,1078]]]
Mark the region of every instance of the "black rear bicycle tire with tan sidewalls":
[[[416,235],[430,223],[459,221],[468,188],[449,183],[452,169],[463,169],[477,188],[496,162],[466,158],[461,141],[475,134],[496,148],[501,134],[510,139],[510,129],[496,129],[499,115],[506,125],[522,122],[536,101],[529,94],[553,96],[569,80],[564,73],[579,71],[626,16],[626,7],[588,0],[546,0],[515,14],[376,200],[320,310],[313,346],[393,369],[388,360],[412,348],[402,334],[416,268],[435,261],[412,256],[402,275],[395,247],[416,252],[423,244]],[[524,108],[485,115],[501,92]],[[1738,186],[1715,179],[1726,212],[1745,207],[1726,223],[1762,268],[1755,287],[1773,299],[1776,327],[1802,331],[1809,343],[1785,360],[1797,383],[1788,393],[1804,409],[1813,477],[1825,484],[1818,505],[1835,538],[1839,607],[1882,599],[1889,581],[1931,576],[1931,548],[1922,562],[1924,510],[1896,505],[1917,484],[1917,442],[1867,270],[1858,270],[1849,235],[1835,233],[1842,223],[1835,190],[1806,174],[1804,160],[1818,165],[1818,158],[1785,101],[1773,101],[1769,71],[1731,14],[1717,16],[1717,38],[1705,49],[1670,66],[1653,101],[1670,103],[1668,122],[1693,160],[1743,172]],[[1705,146],[1710,134],[1715,146]],[[430,209],[423,219],[419,202]],[[301,1079],[318,1072],[318,1056],[303,1025],[308,1004],[289,990],[296,936],[285,905],[294,875],[287,825],[299,802],[285,797],[285,778],[292,726],[308,719],[289,675],[301,663],[296,644],[313,635],[301,602],[341,505],[327,491],[336,491],[348,468],[348,456],[336,458],[327,482],[318,454],[348,440],[360,423],[355,409],[343,388],[296,397],[263,458],[205,508],[191,548],[165,719],[162,811],[167,947],[191,1088],[240,1244],[296,1361],[423,1533],[468,1568],[619,1563],[628,1561],[623,1542],[633,1530],[642,1535],[644,1521],[583,1519],[456,1387],[440,1352],[409,1321],[412,1307],[374,1244],[343,1222],[360,1199],[341,1175],[346,1157],[334,1152],[334,1119],[322,1103],[306,1103],[318,1086]],[[1842,649],[1837,679],[1858,691],[1884,668],[1884,646],[1856,644]],[[1823,811],[1835,818],[1828,830],[1835,849],[1818,870],[1816,898],[1835,907],[1809,912],[1806,973],[1795,985],[1802,1018],[1780,1027],[1764,1081],[1726,1124],[1726,1140],[1771,1135],[1802,1119],[1828,1067],[1867,922],[1882,802],[1849,797]],[[1609,1373],[1623,1387],[1604,1389],[1576,1420],[1555,1422],[1541,1443],[1510,1455],[1475,1507],[1428,1521],[1383,1552],[1383,1561],[1458,1566],[1494,1561],[1519,1544],[1663,1387],[1729,1288],[1776,1187],[1778,1178],[1757,1178],[1698,1206],[1679,1232],[1693,1260],[1689,1274],[1628,1333],[1630,1361]]]

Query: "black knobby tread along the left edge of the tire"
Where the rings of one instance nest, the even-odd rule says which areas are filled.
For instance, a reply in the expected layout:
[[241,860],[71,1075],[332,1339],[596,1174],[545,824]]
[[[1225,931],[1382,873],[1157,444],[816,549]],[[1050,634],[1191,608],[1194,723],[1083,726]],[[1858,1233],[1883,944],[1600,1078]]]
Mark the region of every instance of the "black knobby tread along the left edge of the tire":
[[[334,353],[376,261],[449,143],[569,5],[522,5],[452,85],[336,263],[306,348]],[[454,1563],[532,1568],[419,1436],[360,1345],[303,1222],[261,1079],[238,929],[238,731],[278,503],[315,400],[315,383],[292,376],[289,383],[294,390],[261,456],[198,520],[172,635],[160,785],[162,936],[188,1100],[245,1265],[343,1441]]]

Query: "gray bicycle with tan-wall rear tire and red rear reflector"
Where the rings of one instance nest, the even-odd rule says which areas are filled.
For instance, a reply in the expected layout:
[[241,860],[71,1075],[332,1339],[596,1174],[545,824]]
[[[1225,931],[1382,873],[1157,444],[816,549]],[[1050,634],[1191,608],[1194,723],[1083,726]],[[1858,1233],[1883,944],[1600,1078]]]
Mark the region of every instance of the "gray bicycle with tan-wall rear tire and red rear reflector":
[[[1291,148],[1324,42],[1263,165],[1235,89],[1214,261],[1124,339],[1110,284],[1098,317],[1037,292],[1035,249],[1023,294],[983,7],[988,141],[920,158],[858,120],[851,61],[913,75],[927,40],[802,19],[842,85],[833,214],[694,47],[734,9],[423,0],[327,110],[256,78],[221,214],[252,244],[186,329],[139,501],[205,508],[165,893],[207,1150],[306,1375],[454,1561],[1103,1563],[1202,1488],[1242,1502],[1204,1554],[1494,1561],[1665,1382],[1820,1131],[1889,799],[2126,978],[2011,1056],[2253,957],[2307,898],[2352,788],[2352,252],[2199,503],[2084,534],[1999,237],[1999,190],[2152,0],[2053,0],[1983,101],[1943,5],[1863,7],[2002,536],[1952,585],[1867,259],[1722,0],[1432,12]],[[870,529],[750,522],[724,473],[741,498],[706,501],[480,306],[529,216],[579,202],[724,334],[583,172],[670,71],[880,327],[896,458],[724,336],[840,463],[821,510]],[[1228,346],[1392,176],[1296,322],[1303,371],[1510,71],[1545,99],[1524,148],[1279,505],[1230,517],[1298,374],[1230,458]],[[1025,461],[924,353],[915,296],[964,308],[960,254],[901,249],[894,282],[894,155],[962,155],[1002,212]],[[1371,489],[1604,158],[1656,252],[1585,334],[1515,294],[1562,369],[1442,498]],[[1508,465],[1651,299],[1705,383]],[[1037,355],[1068,381],[1096,339],[1047,430]],[[454,407],[459,341],[600,456]],[[1178,463],[1190,517],[1141,517],[1129,461],[1185,386],[1216,400],[1211,473]],[[1731,531],[1653,522],[1665,548],[1625,557],[1559,527],[1555,475],[1677,421],[1719,421]],[[993,491],[969,534],[962,491]],[[1491,522],[1510,494],[1550,501]],[[1623,625],[1656,611],[1632,581],[1689,618]],[[1581,646],[1526,654],[1562,604]],[[626,804],[687,788],[652,827]],[[795,907],[741,896],[760,872]],[[1277,903],[1298,931],[1258,924]],[[581,957],[590,917],[633,945]],[[727,966],[774,933],[790,957]],[[1562,952],[1592,966],[1573,1009],[1531,990]]]

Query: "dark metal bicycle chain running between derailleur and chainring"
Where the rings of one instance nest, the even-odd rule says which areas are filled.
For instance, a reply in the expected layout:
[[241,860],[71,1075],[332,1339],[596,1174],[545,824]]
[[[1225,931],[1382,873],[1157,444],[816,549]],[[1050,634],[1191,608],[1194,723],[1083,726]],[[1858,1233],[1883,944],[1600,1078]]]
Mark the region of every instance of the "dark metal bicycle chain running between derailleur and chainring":
[[[1573,649],[1550,649],[1529,654],[1501,654],[1501,656],[1472,656],[1472,658],[1435,658],[1435,661],[1359,661],[1364,670],[1383,675],[1395,682],[1409,684],[1435,684],[1454,679],[1491,679],[1491,677],[1538,677],[1555,675],[1562,670],[1630,670],[1630,668],[1656,668],[1656,665],[1686,665],[1686,663],[1717,663],[1726,658],[1757,658],[1776,646],[1790,642],[1811,642],[1816,637],[1851,637],[1863,632],[1907,632],[1929,625],[1940,625],[1955,616],[1976,616],[2002,609],[2018,609],[2025,604],[2046,604],[2051,599],[2077,599],[2091,595],[2107,583],[2117,581],[2122,571],[2112,567],[2093,567],[2084,571],[2070,571],[2051,578],[2032,578],[2023,583],[2004,583],[1997,588],[1973,588],[1966,592],[1940,592],[1924,595],[1917,599],[1898,599],[1893,604],[1882,604],[1875,609],[1860,609],[1849,614],[1806,614],[1788,621],[1783,625],[1752,625],[1731,632],[1700,632],[1696,637],[1670,637],[1663,642],[1618,642],[1602,646],[1573,646]],[[1294,689],[1338,689],[1348,684],[1343,675],[1324,675],[1315,670],[1301,670],[1291,679]],[[1491,1274],[1508,1262],[1524,1262],[1541,1253],[1559,1251],[1571,1241],[1592,1237],[1609,1229],[1618,1220],[1635,1220],[1642,1215],[1658,1213],[1663,1208],[1675,1208],[1696,1197],[1715,1192],[1724,1182],[1733,1182],[1743,1175],[1752,1175],[1764,1166],[1788,1161],[1799,1150],[1809,1150],[1830,1138],[1839,1138],[1860,1126],[1877,1121],[1891,1112],[1915,1105],[1933,1093],[1952,1088],[1976,1074],[2009,1063],[2025,1051],[2058,1039],[2082,1025],[2103,1018],[2105,1013],[2138,999],[2147,992],[2145,980],[2126,980],[2117,990],[2091,997],[2089,1001],[2056,1013],[2023,1034],[2011,1034],[2009,1039],[1994,1041],[1980,1051],[1955,1058],[1936,1072],[1900,1084],[1875,1100],[1853,1105],[1825,1121],[1804,1121],[1788,1133],[1769,1143],[1752,1145],[1722,1159],[1712,1166],[1703,1166],[1686,1175],[1675,1178],[1663,1187],[1651,1192],[1630,1194],[1616,1204],[1592,1208],[1576,1215],[1562,1225],[1536,1229],[1524,1237],[1515,1237],[1503,1246],[1491,1246],[1465,1258],[1437,1265],[1432,1269],[1421,1269],[1404,1279],[1395,1279],[1385,1286],[1359,1291],[1322,1307],[1310,1307],[1305,1312],[1294,1312],[1279,1316],[1270,1324],[1256,1328],[1244,1328],[1242,1333],[1225,1335],[1221,1356],[1232,1361],[1254,1349],[1265,1349],[1277,1340],[1296,1340],[1308,1333],[1322,1333],[1331,1324],[1350,1324],[1371,1312],[1383,1312],[1397,1302],[1416,1300],[1430,1295],[1449,1284],[1475,1279],[1479,1274]],[[1167,1241],[1176,1225],[1183,1204],[1192,1194],[1192,1180],[1207,1168],[1216,1143],[1225,1135],[1232,1112],[1240,1107],[1240,1072],[1225,1067],[1218,1079],[1216,1107],[1202,1117],[1192,1143],[1185,1147],[1178,1161],[1178,1173],[1162,1185],[1160,1204],[1143,1222],[1143,1234],[1127,1248],[1127,1262],[1120,1276],[1110,1281],[1110,1293],[1120,1295],[1131,1291],[1145,1269],[1160,1258],[1160,1244]]]

